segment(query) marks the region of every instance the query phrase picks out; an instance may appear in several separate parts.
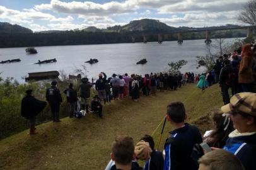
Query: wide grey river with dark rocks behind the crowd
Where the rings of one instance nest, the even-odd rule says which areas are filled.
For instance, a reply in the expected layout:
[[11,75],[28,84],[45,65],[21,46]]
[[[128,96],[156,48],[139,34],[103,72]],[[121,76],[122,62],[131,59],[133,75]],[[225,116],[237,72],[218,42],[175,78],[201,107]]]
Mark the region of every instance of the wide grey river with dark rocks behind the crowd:
[[[235,38],[225,39],[225,42],[234,42]],[[213,43],[216,41],[213,40]],[[187,60],[187,65],[182,72],[201,73],[203,68],[197,69],[195,62],[197,55],[206,54],[207,45],[204,40],[185,40],[182,45],[176,41],[149,43],[117,43],[102,45],[68,45],[35,47],[38,54],[26,54],[22,48],[0,48],[0,61],[9,59],[21,59],[21,62],[0,64],[1,77],[14,77],[18,82],[25,82],[22,77],[27,77],[28,72],[40,71],[64,71],[66,74],[74,74],[74,70],[86,66],[88,77],[97,77],[100,72],[107,76],[113,73],[146,74],[168,70],[168,63],[177,60]],[[50,64],[34,64],[38,60],[56,59]],[[96,64],[84,63],[86,60],[98,59]],[[136,65],[136,62],[146,58],[148,63]]]

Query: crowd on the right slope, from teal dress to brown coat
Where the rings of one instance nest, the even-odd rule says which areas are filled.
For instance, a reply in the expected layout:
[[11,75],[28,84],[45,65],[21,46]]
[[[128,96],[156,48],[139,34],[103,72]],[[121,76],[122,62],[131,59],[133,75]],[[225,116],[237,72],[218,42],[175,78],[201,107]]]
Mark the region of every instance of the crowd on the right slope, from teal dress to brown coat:
[[256,82],[256,44],[245,44],[233,53],[224,54],[216,60],[212,71],[199,76],[198,88],[206,89],[219,83],[224,105],[231,96],[241,92],[253,92]]

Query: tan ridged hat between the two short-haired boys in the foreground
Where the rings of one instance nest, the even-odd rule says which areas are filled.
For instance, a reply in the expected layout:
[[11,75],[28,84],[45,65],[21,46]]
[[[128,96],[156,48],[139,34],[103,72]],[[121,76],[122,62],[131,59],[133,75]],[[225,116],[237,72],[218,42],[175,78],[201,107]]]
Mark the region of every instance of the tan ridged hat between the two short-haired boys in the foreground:
[[140,160],[149,159],[151,152],[152,149],[150,148],[149,143],[145,142],[144,140],[139,141],[134,149],[137,159]]

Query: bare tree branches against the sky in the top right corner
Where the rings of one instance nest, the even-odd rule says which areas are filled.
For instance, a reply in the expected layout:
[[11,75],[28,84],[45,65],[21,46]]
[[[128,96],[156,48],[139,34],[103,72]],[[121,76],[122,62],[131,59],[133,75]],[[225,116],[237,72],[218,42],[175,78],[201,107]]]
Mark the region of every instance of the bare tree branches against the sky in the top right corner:
[[238,21],[249,25],[256,25],[256,0],[250,0],[244,6],[243,11],[238,15]]

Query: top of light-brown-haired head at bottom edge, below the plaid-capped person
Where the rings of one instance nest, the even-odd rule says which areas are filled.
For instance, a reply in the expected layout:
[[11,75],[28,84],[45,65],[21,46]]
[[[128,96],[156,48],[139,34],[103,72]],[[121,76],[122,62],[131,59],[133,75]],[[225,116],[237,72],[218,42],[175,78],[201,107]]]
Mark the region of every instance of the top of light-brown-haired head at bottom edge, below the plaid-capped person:
[[198,162],[199,170],[244,170],[236,156],[222,149],[207,152]]

